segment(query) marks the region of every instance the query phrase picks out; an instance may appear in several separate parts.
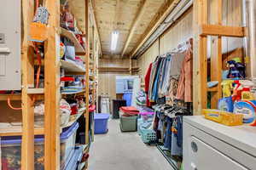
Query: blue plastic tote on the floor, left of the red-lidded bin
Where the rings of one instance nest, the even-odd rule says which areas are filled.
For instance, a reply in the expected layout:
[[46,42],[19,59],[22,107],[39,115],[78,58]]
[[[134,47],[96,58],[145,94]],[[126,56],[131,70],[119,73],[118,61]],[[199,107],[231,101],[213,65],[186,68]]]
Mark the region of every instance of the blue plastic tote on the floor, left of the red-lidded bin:
[[108,113],[96,113],[94,115],[94,133],[108,133]]

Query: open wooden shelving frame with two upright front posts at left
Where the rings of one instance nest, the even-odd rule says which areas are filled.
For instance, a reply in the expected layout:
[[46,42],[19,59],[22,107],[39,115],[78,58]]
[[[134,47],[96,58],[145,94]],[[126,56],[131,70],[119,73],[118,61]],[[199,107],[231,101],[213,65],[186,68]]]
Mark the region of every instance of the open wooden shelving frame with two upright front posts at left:
[[[65,73],[74,75],[84,75],[85,88],[76,93],[62,93],[62,95],[69,94],[83,94],[85,98],[86,108],[80,112],[73,120],[67,123],[68,127],[76,122],[80,116],[84,115],[85,118],[85,143],[89,144],[89,64],[90,53],[93,54],[94,61],[98,57],[100,45],[99,36],[95,37],[97,31],[93,31],[94,38],[90,40],[90,25],[96,27],[96,21],[90,23],[90,14],[93,14],[93,10],[89,7],[90,0],[74,0],[73,3],[84,4],[82,19],[78,22],[83,22],[86,39],[86,48],[82,47],[72,31],[67,31],[60,27],[60,7],[61,1],[44,0],[44,6],[49,11],[49,23],[48,23],[48,38],[44,42],[44,59],[42,59],[42,65],[44,65],[44,88],[32,88],[34,87],[34,66],[38,65],[36,59],[31,56],[34,55],[33,44],[29,41],[30,37],[30,24],[32,23],[34,16],[34,8],[36,0],[22,0],[22,90],[20,94],[0,94],[0,100],[5,101],[7,99],[21,101],[22,105],[22,126],[12,126],[9,128],[0,127],[0,136],[22,136],[21,144],[21,167],[20,169],[34,170],[34,135],[44,134],[44,169],[56,170],[60,169],[60,134],[62,131],[60,125],[60,70],[63,68]],[[41,1],[39,1],[41,2]],[[74,10],[74,9],[73,9]],[[72,11],[75,13],[78,11]],[[84,58],[84,68],[76,65],[73,62],[61,60],[59,57],[59,45],[60,37],[64,36],[69,38],[75,46],[76,54]],[[90,41],[93,41],[94,48],[90,52]],[[94,42],[97,41],[97,42]],[[96,62],[93,62],[93,71],[96,72]],[[34,125],[34,99],[44,99],[44,127],[35,128]],[[85,151],[89,151],[87,147]],[[87,169],[87,167],[84,167]]]

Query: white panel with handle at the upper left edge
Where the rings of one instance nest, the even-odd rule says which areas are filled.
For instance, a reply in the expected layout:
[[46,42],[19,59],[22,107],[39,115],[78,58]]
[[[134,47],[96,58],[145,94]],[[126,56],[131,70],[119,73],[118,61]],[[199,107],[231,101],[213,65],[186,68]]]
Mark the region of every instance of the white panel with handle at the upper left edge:
[[21,89],[21,1],[1,0],[0,90]]

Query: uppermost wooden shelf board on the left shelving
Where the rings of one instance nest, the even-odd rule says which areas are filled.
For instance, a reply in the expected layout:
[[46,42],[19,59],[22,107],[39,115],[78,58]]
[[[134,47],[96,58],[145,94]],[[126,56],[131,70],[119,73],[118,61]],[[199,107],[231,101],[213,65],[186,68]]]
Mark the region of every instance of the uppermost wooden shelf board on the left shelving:
[[81,44],[79,43],[79,40],[77,39],[73,31],[68,31],[64,28],[61,28],[61,36],[67,37],[74,43],[76,53],[85,54],[85,49],[81,46]]

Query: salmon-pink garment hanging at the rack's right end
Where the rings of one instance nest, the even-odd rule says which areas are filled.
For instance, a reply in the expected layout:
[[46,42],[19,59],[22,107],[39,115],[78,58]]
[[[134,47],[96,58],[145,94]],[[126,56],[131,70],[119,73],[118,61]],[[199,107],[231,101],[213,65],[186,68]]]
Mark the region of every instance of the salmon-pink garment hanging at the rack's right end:
[[181,75],[178,80],[176,99],[183,99],[185,102],[192,102],[192,68],[192,48],[188,48],[185,59],[183,60]]

